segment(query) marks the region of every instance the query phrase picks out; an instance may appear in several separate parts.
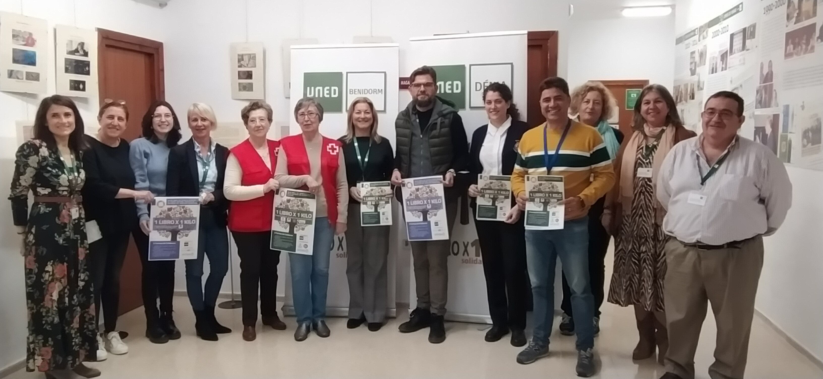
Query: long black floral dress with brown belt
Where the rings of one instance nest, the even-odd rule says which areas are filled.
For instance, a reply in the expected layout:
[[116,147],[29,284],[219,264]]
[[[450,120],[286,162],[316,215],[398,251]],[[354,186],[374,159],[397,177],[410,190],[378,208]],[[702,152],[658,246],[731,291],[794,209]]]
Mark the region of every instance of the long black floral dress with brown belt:
[[[86,217],[81,204],[37,202],[35,196],[79,196],[85,183],[81,157],[72,173],[57,148],[28,141],[17,150],[12,213],[26,225],[26,371],[69,369],[97,350],[94,293],[86,261]],[[73,207],[73,209],[72,209]],[[92,355],[89,357],[94,359]]]

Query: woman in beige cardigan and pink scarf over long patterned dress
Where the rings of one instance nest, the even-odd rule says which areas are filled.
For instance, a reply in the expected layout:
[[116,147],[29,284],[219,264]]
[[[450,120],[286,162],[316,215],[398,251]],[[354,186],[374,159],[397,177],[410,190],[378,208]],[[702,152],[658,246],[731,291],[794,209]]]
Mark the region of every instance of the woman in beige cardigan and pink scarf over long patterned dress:
[[615,161],[616,185],[607,196],[603,226],[615,236],[615,263],[608,301],[634,306],[640,339],[633,359],[646,359],[658,348],[663,363],[668,349],[663,312],[665,210],[654,195],[660,164],[677,142],[695,136],[683,127],[666,87],[651,85],[635,105],[635,132],[624,141]]

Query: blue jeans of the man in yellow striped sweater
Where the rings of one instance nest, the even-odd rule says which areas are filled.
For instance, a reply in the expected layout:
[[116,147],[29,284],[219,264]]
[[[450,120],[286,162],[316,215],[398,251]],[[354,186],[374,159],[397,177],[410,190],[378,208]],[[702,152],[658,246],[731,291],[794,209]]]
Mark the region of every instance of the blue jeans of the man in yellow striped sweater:
[[557,257],[571,289],[577,349],[594,347],[594,298],[588,284],[588,217],[567,220],[565,229],[526,230],[526,261],[534,297],[534,333],[548,344],[555,311]]

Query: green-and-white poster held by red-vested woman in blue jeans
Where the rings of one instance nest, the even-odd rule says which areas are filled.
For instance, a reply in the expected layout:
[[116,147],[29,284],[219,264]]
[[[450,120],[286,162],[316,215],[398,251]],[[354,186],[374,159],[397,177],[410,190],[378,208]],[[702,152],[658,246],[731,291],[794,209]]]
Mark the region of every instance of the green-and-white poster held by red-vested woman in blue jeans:
[[311,192],[281,188],[274,198],[272,250],[312,255],[316,207]]

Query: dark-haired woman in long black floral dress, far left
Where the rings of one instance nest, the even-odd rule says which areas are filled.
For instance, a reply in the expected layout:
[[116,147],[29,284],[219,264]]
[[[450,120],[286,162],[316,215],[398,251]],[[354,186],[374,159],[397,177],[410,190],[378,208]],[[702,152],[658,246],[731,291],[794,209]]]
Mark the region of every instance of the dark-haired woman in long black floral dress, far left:
[[[72,99],[40,102],[35,137],[17,149],[9,200],[25,261],[26,371],[98,377],[97,325],[81,188],[83,119]],[[29,209],[29,192],[34,202]]]

